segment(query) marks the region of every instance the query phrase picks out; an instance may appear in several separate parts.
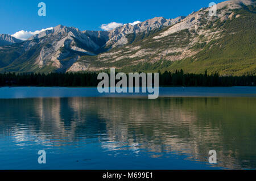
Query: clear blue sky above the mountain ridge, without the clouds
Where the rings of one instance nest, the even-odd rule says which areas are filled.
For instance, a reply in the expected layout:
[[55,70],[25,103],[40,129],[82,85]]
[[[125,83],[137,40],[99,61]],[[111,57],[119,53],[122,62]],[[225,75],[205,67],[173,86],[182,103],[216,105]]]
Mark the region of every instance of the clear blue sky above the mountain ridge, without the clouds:
[[[132,23],[163,16],[176,18],[188,15],[217,0],[0,0],[0,33],[13,34],[20,30],[36,31],[58,24],[79,30],[100,30],[110,22]],[[38,16],[38,3],[46,3],[46,16]]]

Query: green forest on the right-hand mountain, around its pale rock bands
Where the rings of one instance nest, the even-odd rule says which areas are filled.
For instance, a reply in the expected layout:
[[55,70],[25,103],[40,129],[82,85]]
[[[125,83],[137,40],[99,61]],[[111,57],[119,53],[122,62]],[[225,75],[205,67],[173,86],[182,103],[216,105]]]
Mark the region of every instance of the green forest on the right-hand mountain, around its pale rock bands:
[[[111,63],[112,66],[119,67],[119,70],[129,71],[175,71],[183,69],[186,73],[203,73],[205,69],[209,73],[218,71],[220,75],[256,75],[256,11],[255,7],[245,6],[243,9],[233,10],[232,19],[221,22],[219,19],[208,27],[211,31],[222,31],[216,33],[217,39],[212,39],[209,43],[201,42],[193,45],[191,50],[199,52],[194,56],[184,58],[180,61],[168,61],[164,56],[159,62],[151,62],[151,57],[127,57],[125,60]],[[236,18],[236,15],[240,15]],[[162,30],[165,31],[165,30]],[[195,33],[183,30],[173,33],[169,36],[158,39],[152,37],[158,35],[162,31],[150,35],[143,41],[133,41],[134,47],[140,46],[140,49],[152,49],[164,51],[167,48],[186,47],[189,44],[191,36],[197,36]],[[200,40],[204,40],[203,35],[199,36]],[[123,48],[119,48],[124,50]],[[137,51],[138,51],[137,50]],[[115,50],[117,51],[117,50]],[[157,53],[155,53],[157,54]],[[123,55],[123,54],[121,54]],[[167,56],[175,56],[175,53],[167,53]],[[136,62],[137,60],[143,60]],[[97,66],[101,66],[101,62]],[[104,62],[104,66],[108,66],[108,61]]]

